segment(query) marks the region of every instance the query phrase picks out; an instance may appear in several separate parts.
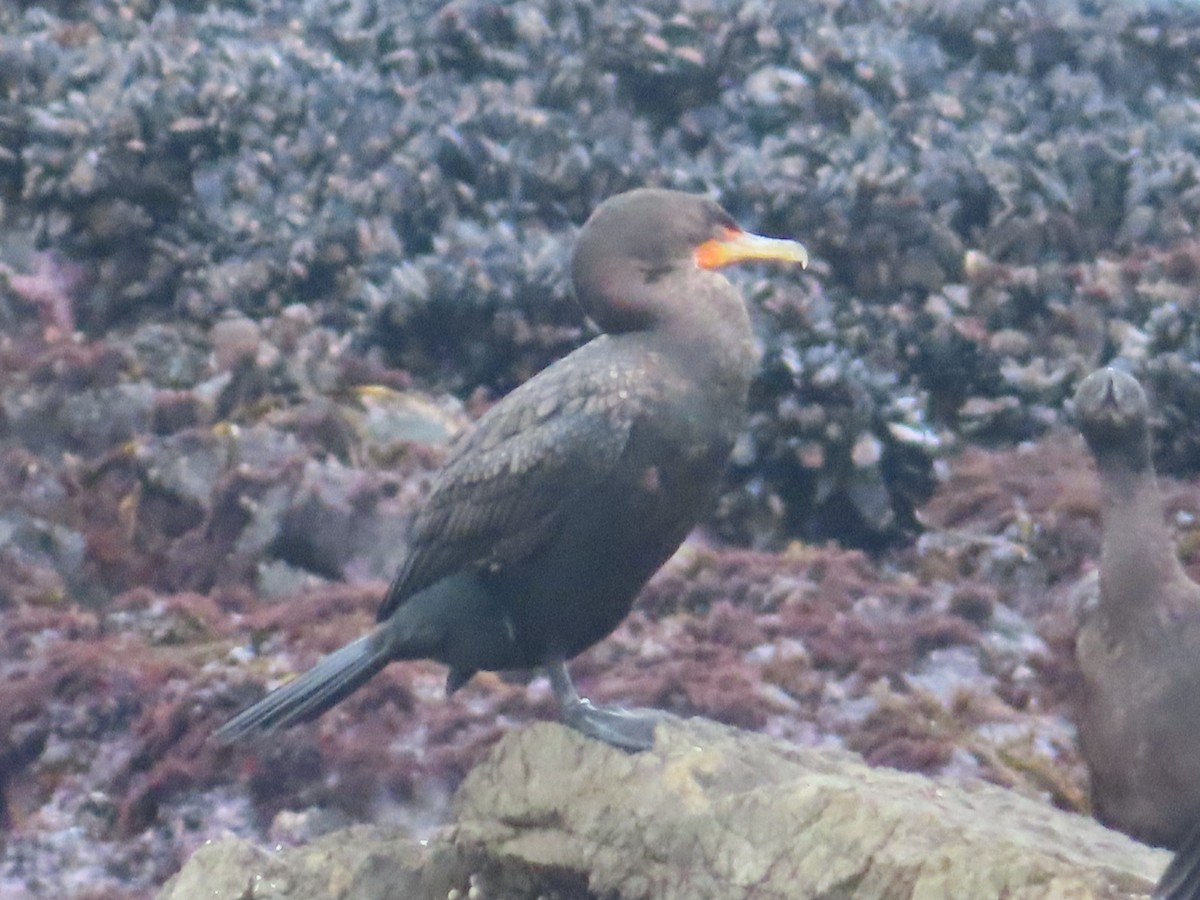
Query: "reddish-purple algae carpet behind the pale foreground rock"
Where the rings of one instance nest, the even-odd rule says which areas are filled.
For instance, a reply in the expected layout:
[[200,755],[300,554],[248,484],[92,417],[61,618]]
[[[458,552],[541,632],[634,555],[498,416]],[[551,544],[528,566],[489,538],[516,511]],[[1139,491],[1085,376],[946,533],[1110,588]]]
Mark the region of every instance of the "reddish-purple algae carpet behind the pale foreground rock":
[[[1063,610],[1098,521],[1072,446],[1054,437],[1032,454],[962,454],[923,512],[938,530],[890,557],[691,542],[622,626],[574,661],[581,689],[834,740],[876,764],[978,774],[1084,809],[1063,718],[1073,678]],[[138,481],[130,466],[115,455],[91,473],[85,500],[66,498],[137,554],[120,530]],[[1176,509],[1194,508],[1194,491],[1164,485]],[[445,698],[439,666],[396,664],[286,739],[216,748],[208,736],[220,721],[366,628],[384,582],[329,583],[272,602],[238,580],[209,590],[151,584],[95,611],[8,601],[0,754],[12,827],[89,794],[108,798],[98,833],[109,840],[140,840],[214,792],[240,798],[245,808],[232,815],[264,834],[284,811],[320,809],[341,822],[416,815],[505,730],[557,715],[540,678],[485,674]]]

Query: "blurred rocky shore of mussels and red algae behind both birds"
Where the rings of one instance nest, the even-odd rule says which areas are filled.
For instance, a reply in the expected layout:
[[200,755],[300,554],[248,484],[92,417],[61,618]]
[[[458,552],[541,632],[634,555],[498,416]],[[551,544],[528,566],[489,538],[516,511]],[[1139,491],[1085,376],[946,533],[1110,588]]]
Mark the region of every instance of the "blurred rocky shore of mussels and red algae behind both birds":
[[368,622],[448,442],[590,336],[575,229],[643,184],[814,265],[733,275],[726,490],[584,689],[1086,810],[1064,401],[1151,389],[1195,560],[1198,96],[1166,2],[0,0],[0,894],[420,830],[552,715],[414,664],[205,740]]

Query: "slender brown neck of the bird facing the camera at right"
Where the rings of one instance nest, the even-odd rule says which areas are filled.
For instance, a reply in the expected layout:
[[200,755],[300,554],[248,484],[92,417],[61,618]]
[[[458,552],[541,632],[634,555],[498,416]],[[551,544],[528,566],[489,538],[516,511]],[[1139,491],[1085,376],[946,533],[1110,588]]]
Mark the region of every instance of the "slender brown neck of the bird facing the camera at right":
[[1100,606],[1111,620],[1129,622],[1154,613],[1168,595],[1166,586],[1186,580],[1186,575],[1163,521],[1163,498],[1153,470],[1102,467],[1100,478]]

